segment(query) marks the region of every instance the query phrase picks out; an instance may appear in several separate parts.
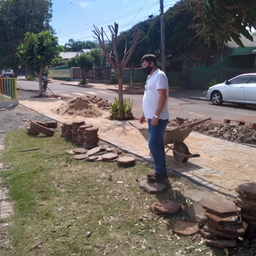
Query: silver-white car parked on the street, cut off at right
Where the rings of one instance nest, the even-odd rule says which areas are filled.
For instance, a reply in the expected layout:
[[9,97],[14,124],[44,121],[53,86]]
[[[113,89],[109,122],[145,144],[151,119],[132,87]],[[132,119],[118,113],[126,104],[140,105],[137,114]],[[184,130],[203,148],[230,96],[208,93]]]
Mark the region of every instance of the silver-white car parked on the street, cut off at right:
[[207,100],[213,105],[223,102],[256,105],[256,73],[243,74],[210,87]]

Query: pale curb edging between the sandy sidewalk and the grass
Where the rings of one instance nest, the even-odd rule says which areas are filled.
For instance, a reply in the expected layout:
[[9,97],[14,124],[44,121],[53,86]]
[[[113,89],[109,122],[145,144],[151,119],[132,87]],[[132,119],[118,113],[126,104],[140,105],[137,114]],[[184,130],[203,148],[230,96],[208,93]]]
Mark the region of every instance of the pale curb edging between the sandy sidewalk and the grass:
[[[22,105],[22,104],[20,104],[20,105],[23,106],[23,107],[25,107],[25,106]],[[44,117],[48,117],[48,118],[50,118],[50,119],[52,119],[52,120],[54,120],[54,121],[56,121],[56,122],[62,124],[62,122],[61,122],[60,120],[58,120],[58,119],[55,119],[55,118],[52,118],[52,117],[43,115],[43,114],[41,114],[40,112],[38,112],[38,111],[36,111],[36,110],[34,110],[34,109],[30,108],[30,107],[26,107],[26,108],[28,108],[28,109],[30,109],[30,110],[32,110],[32,111],[35,111],[36,113],[38,113],[38,114],[40,114],[40,115],[42,115],[42,116],[44,116]],[[105,142],[105,143],[107,143],[107,144],[109,144],[109,145],[111,145],[111,146],[121,147],[121,149],[122,149],[122,145],[121,145],[121,144],[115,144],[115,143],[112,143],[112,142],[109,142],[109,141],[103,140],[103,139],[100,139],[100,140],[103,141],[103,142]],[[124,148],[125,148],[125,147],[124,147]],[[154,163],[152,157],[150,157],[150,156],[141,156],[141,155],[139,155],[139,154],[136,154],[136,153],[132,152],[132,150],[131,150],[131,151],[126,150],[126,149],[122,149],[122,150],[123,150],[125,153],[135,155],[136,157],[141,158],[141,159],[143,159],[144,161],[149,162],[150,164]],[[187,179],[190,180],[192,183],[194,183],[195,185],[198,185],[198,186],[200,186],[200,187],[205,187],[205,188],[207,188],[207,189],[209,189],[209,190],[212,190],[212,191],[214,191],[214,192],[218,192],[218,193],[223,194],[223,195],[225,195],[225,196],[229,196],[229,197],[232,197],[232,198],[236,198],[236,196],[234,196],[234,195],[232,195],[232,194],[229,194],[229,193],[225,193],[225,192],[220,191],[220,190],[219,190],[219,188],[220,188],[219,186],[214,185],[213,183],[210,183],[210,182],[208,182],[208,181],[202,180],[201,178],[197,177],[196,175],[193,175],[193,174],[191,174],[191,173],[187,173],[186,171],[177,171],[177,170],[171,169],[171,168],[168,168],[167,171],[168,171],[168,172],[171,172],[171,173],[172,173],[174,176],[176,176],[176,177],[187,178]]]

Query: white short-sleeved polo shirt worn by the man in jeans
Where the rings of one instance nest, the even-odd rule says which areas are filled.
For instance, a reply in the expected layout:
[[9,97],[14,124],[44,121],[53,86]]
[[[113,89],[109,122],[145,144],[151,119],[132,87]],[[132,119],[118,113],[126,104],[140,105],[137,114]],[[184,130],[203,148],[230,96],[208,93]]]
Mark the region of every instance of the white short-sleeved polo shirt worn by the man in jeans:
[[160,98],[158,89],[166,89],[167,100],[165,107],[160,113],[160,119],[169,119],[168,111],[168,99],[169,99],[169,86],[166,74],[160,69],[155,70],[150,76],[148,76],[145,93],[143,96],[143,112],[146,118],[152,119],[155,114],[158,100]]

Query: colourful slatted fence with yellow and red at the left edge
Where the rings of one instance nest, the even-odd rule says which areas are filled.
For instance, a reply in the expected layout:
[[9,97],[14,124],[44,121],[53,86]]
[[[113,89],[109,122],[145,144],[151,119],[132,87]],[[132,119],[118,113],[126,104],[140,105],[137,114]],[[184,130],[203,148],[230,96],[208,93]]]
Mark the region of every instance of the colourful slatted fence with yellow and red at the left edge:
[[17,100],[16,78],[0,78],[0,101]]

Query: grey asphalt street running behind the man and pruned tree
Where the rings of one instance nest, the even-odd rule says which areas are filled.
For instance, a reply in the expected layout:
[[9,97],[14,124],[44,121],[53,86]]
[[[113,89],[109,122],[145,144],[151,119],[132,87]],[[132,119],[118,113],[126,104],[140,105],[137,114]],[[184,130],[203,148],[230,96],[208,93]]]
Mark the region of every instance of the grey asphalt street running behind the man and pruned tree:
[[[24,90],[38,90],[37,82],[18,80],[17,83]],[[48,87],[54,94],[65,95],[70,98],[78,95],[95,95],[113,102],[114,98],[118,97],[117,91],[102,89],[102,87],[99,89],[97,86],[79,87],[72,85],[61,85],[60,83],[50,83],[48,84]],[[51,92],[47,90],[46,94],[50,95]],[[183,90],[171,92],[169,94],[170,119],[175,119],[177,116],[189,119],[204,119],[211,117],[213,122],[217,123],[222,123],[224,119],[256,123],[256,106],[248,107],[238,106],[235,104],[223,104],[222,106],[214,106],[211,102],[208,101],[191,100],[189,99],[191,96],[203,97],[202,90]],[[143,95],[126,93],[124,94],[124,97],[130,97],[134,99],[136,106],[133,110],[133,113],[136,117],[139,117],[142,112]],[[19,100],[24,100],[24,98],[19,98]]]

